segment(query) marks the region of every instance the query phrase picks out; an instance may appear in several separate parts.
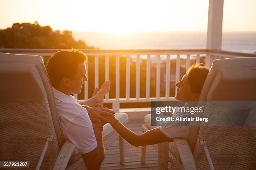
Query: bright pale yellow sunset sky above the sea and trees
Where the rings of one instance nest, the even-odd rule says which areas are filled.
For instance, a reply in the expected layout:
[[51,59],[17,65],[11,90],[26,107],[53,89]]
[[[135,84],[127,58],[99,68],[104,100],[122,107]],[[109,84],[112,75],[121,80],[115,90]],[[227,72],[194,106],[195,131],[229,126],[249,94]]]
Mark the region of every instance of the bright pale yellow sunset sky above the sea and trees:
[[[256,31],[256,0],[224,0],[223,31]],[[0,0],[0,29],[38,21],[54,30],[207,31],[208,0]]]

